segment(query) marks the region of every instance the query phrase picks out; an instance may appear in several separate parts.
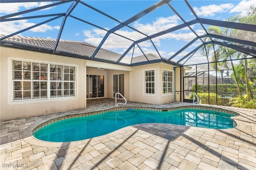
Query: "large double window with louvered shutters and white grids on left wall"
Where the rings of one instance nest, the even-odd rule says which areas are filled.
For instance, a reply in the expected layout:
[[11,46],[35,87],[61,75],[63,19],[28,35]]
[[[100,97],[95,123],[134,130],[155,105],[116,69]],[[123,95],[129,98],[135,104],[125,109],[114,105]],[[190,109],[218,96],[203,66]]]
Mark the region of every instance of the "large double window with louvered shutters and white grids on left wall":
[[13,101],[75,96],[75,70],[75,66],[12,61]]

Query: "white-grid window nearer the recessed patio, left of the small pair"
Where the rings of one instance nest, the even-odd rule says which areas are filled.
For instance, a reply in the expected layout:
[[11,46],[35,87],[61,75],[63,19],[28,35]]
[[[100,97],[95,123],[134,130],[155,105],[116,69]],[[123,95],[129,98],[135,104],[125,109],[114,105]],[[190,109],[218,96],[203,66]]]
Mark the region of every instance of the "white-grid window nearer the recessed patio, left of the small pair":
[[155,70],[145,70],[145,94],[155,94]]

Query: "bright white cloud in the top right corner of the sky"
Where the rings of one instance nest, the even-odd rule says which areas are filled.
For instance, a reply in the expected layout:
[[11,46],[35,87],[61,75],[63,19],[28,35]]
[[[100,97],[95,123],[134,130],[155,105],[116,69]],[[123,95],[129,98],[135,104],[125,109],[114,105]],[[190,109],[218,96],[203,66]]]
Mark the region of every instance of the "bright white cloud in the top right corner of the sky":
[[246,15],[248,11],[250,11],[250,6],[254,5],[256,6],[256,1],[255,0],[242,0],[237,6],[232,8],[229,13],[234,13],[234,12],[240,12],[241,15]]

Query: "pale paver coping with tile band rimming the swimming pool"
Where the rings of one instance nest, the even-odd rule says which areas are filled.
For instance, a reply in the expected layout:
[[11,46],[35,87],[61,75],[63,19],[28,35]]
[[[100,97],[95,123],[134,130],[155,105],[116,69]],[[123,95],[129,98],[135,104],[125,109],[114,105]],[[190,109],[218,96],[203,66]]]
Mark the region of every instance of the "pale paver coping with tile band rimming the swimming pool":
[[[222,129],[223,131],[227,131],[232,132],[232,131],[241,131],[243,129],[246,129],[246,124],[243,121],[239,121],[239,116],[241,116],[241,114],[237,111],[228,109],[228,108],[219,108],[219,107],[214,107],[214,106],[205,106],[205,105],[191,105],[191,106],[182,106],[182,107],[164,107],[164,108],[155,108],[155,107],[141,107],[141,106],[119,106],[119,107],[113,107],[110,109],[104,109],[101,111],[92,111],[92,112],[88,112],[88,113],[70,113],[70,112],[66,112],[64,113],[63,116],[60,115],[56,115],[54,117],[48,117],[48,119],[44,119],[41,121],[38,121],[36,123],[34,123],[33,125],[30,125],[29,127],[27,127],[23,132],[22,132],[22,139],[31,144],[31,145],[36,145],[36,146],[41,146],[41,147],[65,147],[65,146],[77,146],[77,145],[84,145],[87,144],[89,141],[99,141],[102,139],[106,139],[108,137],[111,137],[112,135],[114,135],[116,133],[116,131],[120,130],[116,130],[114,132],[108,133],[106,135],[102,135],[102,136],[98,136],[98,137],[93,137],[90,139],[84,139],[81,141],[72,141],[72,142],[48,142],[48,141],[42,141],[39,140],[37,138],[35,138],[33,136],[33,132],[35,130],[37,130],[37,128],[39,128],[42,125],[46,125],[47,123],[52,123],[54,121],[58,121],[60,119],[68,119],[68,118],[72,118],[72,117],[81,117],[81,116],[88,116],[88,115],[96,115],[96,114],[101,114],[101,113],[105,113],[107,111],[118,111],[118,110],[124,110],[124,109],[143,109],[143,110],[156,110],[156,111],[173,111],[173,110],[179,110],[179,109],[191,109],[191,108],[198,108],[198,109],[205,109],[205,110],[213,110],[213,111],[220,111],[220,112],[224,112],[224,113],[230,113],[233,114],[234,116],[231,117],[231,119],[233,119],[233,121],[236,123],[236,127],[234,128],[230,128],[230,129]],[[143,123],[143,124],[164,124],[166,125],[166,123]],[[140,125],[140,124],[137,124]],[[168,125],[171,126],[175,126],[175,127],[188,127],[188,128],[196,128],[196,129],[206,129],[206,128],[202,128],[202,127],[191,127],[191,126],[186,126],[186,125],[176,125],[176,124],[170,124],[168,123]],[[130,125],[128,127],[123,127],[121,129],[124,128],[129,128],[131,126],[136,126],[136,125]],[[217,129],[212,129],[212,130],[217,130]]]

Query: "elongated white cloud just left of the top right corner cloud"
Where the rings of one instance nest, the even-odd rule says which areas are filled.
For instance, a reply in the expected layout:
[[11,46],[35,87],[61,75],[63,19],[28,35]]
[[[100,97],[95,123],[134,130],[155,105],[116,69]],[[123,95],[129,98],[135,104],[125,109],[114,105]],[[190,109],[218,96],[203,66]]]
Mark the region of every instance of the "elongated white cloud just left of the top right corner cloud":
[[198,16],[212,17],[212,16],[215,16],[216,13],[227,12],[233,7],[234,7],[233,4],[220,4],[220,5],[211,4],[209,6],[201,6],[200,8],[197,8],[194,6],[193,9]]

